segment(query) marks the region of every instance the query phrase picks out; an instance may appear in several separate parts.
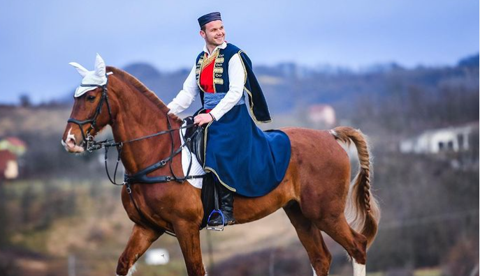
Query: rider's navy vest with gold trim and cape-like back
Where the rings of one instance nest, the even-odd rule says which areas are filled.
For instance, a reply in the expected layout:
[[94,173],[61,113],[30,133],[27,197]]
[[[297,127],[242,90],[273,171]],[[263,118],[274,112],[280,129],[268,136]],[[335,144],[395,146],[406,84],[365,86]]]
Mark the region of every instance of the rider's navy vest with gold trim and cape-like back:
[[[215,93],[226,93],[229,90],[230,82],[228,81],[228,62],[233,55],[240,54],[240,61],[242,61],[243,69],[245,71],[245,86],[244,91],[247,92],[249,98],[250,114],[256,123],[268,123],[272,121],[268,105],[263,96],[260,84],[257,81],[253,69],[252,61],[245,52],[233,44],[227,43],[225,49],[219,49],[219,53],[214,62],[213,68],[213,85]],[[205,52],[198,54],[196,58],[195,77],[198,88],[200,89],[200,99],[203,106],[204,91],[200,86],[200,74],[202,71],[203,59]]]

